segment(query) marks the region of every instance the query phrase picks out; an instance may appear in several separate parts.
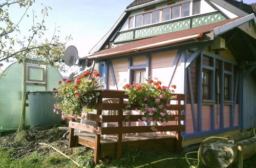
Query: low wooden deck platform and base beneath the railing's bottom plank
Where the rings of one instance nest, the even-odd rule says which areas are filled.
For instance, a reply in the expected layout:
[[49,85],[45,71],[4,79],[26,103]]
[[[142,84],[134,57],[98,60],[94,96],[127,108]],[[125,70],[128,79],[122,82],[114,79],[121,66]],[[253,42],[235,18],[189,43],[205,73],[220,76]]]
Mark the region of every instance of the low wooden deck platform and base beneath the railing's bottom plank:
[[[75,132],[76,143],[87,146],[89,148],[95,148],[95,134],[91,132]],[[137,149],[143,151],[150,151],[158,149],[159,151],[176,151],[176,136],[175,135],[166,135],[160,133],[136,133],[125,134],[122,139],[122,149],[135,151]],[[109,156],[111,158],[116,157],[117,149],[117,135],[106,135],[100,137],[100,156]]]

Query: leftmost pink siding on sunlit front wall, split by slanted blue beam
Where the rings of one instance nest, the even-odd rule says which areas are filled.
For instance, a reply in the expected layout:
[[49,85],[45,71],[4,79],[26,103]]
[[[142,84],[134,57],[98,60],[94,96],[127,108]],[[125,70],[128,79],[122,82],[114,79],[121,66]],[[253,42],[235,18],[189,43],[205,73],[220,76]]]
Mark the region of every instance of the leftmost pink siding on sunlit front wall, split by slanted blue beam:
[[[119,90],[122,90],[123,86],[128,83],[128,59],[114,60],[112,61],[116,83]],[[112,79],[112,74],[109,69],[109,89],[116,89]]]

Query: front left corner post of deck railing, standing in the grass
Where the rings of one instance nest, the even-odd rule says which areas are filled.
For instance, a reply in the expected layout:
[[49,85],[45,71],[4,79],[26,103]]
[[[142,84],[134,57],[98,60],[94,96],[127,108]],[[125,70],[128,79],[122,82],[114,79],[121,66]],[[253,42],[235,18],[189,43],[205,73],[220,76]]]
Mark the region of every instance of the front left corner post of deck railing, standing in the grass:
[[[102,97],[98,97],[98,102],[97,103],[102,103]],[[101,115],[102,110],[97,109],[97,115]],[[101,127],[101,122],[96,122],[96,128]],[[99,163],[99,158],[100,158],[100,134],[95,133],[95,147],[94,147],[94,162],[95,164]]]

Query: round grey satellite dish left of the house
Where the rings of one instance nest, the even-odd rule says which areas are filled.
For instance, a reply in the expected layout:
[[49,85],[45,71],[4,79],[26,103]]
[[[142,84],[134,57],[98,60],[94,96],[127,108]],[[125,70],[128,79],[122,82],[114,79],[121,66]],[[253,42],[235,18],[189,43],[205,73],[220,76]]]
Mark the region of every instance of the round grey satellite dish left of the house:
[[74,45],[67,47],[64,54],[64,62],[68,66],[75,65],[76,60],[78,59],[78,51]]

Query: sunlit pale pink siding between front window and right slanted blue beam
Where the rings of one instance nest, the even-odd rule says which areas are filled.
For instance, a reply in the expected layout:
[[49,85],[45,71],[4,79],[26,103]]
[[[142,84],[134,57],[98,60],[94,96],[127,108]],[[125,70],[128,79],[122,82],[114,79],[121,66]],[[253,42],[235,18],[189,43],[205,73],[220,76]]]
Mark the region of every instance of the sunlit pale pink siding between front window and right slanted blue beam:
[[[173,63],[176,57],[177,51],[165,52],[152,54],[151,57],[151,76],[153,78],[158,78],[162,81],[163,86],[168,86],[170,81],[169,72],[173,69]],[[177,83],[177,89],[178,83]]]

